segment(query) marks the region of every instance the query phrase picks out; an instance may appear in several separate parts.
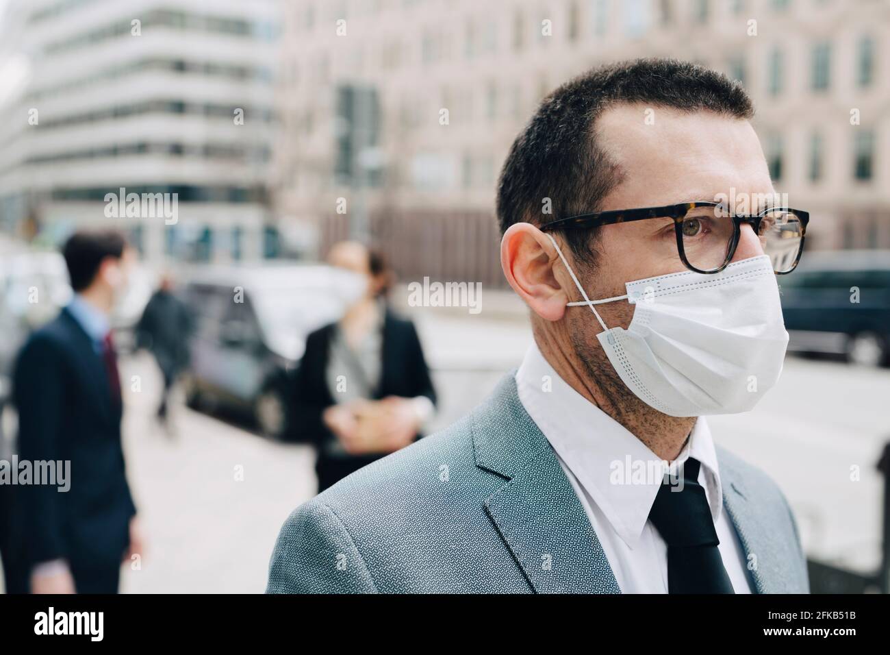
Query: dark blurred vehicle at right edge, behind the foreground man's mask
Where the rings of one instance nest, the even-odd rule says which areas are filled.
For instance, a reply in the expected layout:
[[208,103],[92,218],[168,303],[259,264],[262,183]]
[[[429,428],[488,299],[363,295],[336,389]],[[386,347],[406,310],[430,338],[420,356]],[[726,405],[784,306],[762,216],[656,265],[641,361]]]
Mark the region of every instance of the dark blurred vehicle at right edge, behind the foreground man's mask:
[[779,284],[790,350],[890,364],[890,250],[805,252]]

